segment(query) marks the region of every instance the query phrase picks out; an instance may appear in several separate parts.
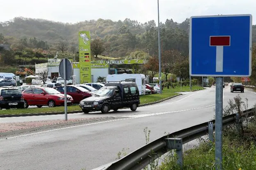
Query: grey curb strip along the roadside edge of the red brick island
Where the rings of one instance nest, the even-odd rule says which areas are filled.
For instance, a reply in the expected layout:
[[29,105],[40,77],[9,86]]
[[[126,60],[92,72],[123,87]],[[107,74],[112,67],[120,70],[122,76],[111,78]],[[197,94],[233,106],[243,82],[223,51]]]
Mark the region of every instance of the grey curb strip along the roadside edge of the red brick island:
[[8,135],[13,135],[13,134],[20,134],[24,133],[27,131],[38,131],[38,130],[43,130],[43,129],[50,129],[50,128],[59,128],[63,126],[68,126],[68,125],[75,125],[79,123],[92,123],[92,122],[100,122],[100,121],[107,121],[107,120],[117,120],[117,119],[122,119],[125,117],[101,117],[101,118],[88,118],[85,120],[75,120],[75,121],[70,121],[70,122],[64,122],[64,123],[56,123],[52,125],[43,125],[43,126],[38,126],[38,127],[31,127],[27,129],[18,129],[18,130],[13,130],[13,131],[7,131],[7,132],[2,132],[0,133],[0,137],[3,136],[8,136]]

